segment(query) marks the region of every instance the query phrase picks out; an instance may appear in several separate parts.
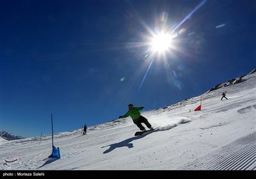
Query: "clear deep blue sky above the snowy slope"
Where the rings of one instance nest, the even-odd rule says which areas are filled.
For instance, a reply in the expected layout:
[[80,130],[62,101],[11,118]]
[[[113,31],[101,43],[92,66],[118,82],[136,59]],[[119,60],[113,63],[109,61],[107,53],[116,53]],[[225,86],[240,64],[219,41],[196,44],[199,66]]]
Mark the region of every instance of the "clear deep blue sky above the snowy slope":
[[[157,109],[255,66],[255,1],[0,1],[1,130],[24,137]],[[152,36],[172,36],[164,52]],[[228,93],[227,93],[228,96]],[[150,119],[149,119],[150,120]]]

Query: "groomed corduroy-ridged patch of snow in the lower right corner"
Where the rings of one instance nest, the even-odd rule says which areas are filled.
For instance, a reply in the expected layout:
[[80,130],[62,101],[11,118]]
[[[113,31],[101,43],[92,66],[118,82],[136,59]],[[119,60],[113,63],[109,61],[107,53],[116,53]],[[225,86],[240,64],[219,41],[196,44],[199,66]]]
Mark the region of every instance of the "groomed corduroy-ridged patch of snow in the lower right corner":
[[191,162],[180,170],[255,170],[256,132]]

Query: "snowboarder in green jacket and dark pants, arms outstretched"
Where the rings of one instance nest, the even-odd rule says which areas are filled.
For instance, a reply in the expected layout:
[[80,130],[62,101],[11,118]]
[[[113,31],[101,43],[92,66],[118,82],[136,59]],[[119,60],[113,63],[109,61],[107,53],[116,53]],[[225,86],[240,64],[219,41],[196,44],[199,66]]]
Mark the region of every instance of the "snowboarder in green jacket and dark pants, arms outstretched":
[[138,128],[140,128],[141,131],[145,131],[145,127],[143,127],[143,125],[141,125],[141,123],[145,123],[145,125],[150,129],[153,130],[152,125],[148,122],[147,118],[141,116],[140,111],[143,109],[144,107],[133,107],[132,104],[128,105],[128,109],[129,111],[127,111],[126,114],[124,114],[124,116],[119,116],[120,118],[127,118],[128,116],[131,116],[132,121],[134,124],[136,124],[138,126]]

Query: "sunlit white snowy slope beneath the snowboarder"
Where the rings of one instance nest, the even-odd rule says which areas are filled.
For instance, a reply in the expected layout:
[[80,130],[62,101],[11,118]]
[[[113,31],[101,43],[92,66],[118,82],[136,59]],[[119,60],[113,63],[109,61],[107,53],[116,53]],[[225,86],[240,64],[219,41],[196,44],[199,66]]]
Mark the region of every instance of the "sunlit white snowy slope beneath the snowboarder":
[[[255,70],[254,70],[255,71]],[[256,73],[177,104],[144,111],[154,132],[134,136],[131,118],[54,134],[1,141],[4,170],[256,170]],[[221,100],[227,91],[228,100]],[[194,109],[202,104],[200,111]],[[19,160],[18,160],[19,159]]]

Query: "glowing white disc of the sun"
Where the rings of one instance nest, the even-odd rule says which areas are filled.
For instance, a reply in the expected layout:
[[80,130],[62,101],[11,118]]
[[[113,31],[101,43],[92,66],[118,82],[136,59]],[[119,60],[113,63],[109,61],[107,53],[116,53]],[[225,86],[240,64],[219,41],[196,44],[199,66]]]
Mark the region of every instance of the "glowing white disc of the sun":
[[170,49],[172,37],[167,33],[160,33],[152,39],[151,45],[154,52],[164,52]]

